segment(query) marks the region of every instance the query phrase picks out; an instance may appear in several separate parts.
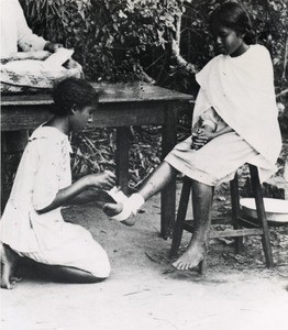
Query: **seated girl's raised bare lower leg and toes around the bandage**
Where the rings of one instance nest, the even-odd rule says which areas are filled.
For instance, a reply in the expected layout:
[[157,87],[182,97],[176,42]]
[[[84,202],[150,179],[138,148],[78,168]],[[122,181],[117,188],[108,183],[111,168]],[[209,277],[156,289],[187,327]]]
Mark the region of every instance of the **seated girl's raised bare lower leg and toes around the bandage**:
[[[146,201],[152,196],[160,191],[174,176],[176,176],[177,170],[171,167],[168,163],[163,162],[148,177],[148,179],[144,183],[143,187],[139,190],[139,194]],[[103,207],[103,211],[108,217],[113,217],[119,215],[123,209],[122,204],[107,204]],[[124,224],[132,226],[135,220],[125,220],[121,221]],[[133,223],[132,223],[133,222]]]

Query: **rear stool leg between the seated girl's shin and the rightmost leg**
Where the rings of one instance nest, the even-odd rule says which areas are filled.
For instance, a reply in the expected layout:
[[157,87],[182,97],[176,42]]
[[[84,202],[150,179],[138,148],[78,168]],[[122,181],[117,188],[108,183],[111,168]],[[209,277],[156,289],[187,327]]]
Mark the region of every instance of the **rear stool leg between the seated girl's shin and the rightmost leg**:
[[[232,205],[232,223],[234,229],[240,229],[240,195],[239,195],[239,176],[235,173],[233,180],[230,182],[231,205]],[[243,237],[235,238],[235,252],[243,252]]]

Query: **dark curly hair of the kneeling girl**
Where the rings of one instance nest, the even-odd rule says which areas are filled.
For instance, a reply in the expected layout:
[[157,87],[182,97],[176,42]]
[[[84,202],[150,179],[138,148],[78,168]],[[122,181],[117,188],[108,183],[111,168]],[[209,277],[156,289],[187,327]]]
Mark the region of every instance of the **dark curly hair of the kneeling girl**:
[[69,77],[59,81],[53,89],[54,107],[51,112],[57,116],[70,113],[74,106],[84,107],[96,105],[99,92],[84,79]]

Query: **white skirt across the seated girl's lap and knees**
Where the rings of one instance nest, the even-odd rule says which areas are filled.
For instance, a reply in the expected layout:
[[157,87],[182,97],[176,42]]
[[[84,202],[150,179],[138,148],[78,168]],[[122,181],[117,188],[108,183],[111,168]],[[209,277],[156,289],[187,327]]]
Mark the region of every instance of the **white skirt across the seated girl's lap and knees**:
[[245,163],[259,169],[261,182],[276,170],[243,138],[235,132],[220,135],[199,150],[192,150],[191,136],[177,144],[165,157],[184,175],[209,186],[233,179],[237,168]]

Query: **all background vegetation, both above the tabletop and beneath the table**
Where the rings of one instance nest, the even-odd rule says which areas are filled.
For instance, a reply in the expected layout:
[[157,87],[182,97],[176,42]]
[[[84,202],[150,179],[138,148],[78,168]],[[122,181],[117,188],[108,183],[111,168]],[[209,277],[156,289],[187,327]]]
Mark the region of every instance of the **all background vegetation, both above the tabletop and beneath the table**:
[[[209,13],[223,0],[20,0],[30,26],[49,41],[74,47],[88,79],[133,81],[151,78],[159,86],[196,94],[193,76],[177,66],[170,37],[181,16],[181,55],[202,67],[212,56],[207,29]],[[287,0],[244,0],[257,42],[270,52],[281,128],[288,131]],[[179,134],[189,132],[189,116],[182,111]],[[188,119],[187,119],[188,118]],[[137,185],[159,162],[159,134],[155,128],[135,128],[131,184]],[[88,142],[90,141],[90,142]],[[74,138],[75,175],[113,167],[114,134],[90,131]],[[91,146],[93,145],[93,146]],[[153,145],[145,148],[141,145]],[[98,152],[96,152],[96,150]],[[153,150],[153,153],[152,153]]]

